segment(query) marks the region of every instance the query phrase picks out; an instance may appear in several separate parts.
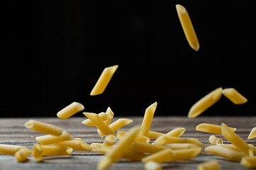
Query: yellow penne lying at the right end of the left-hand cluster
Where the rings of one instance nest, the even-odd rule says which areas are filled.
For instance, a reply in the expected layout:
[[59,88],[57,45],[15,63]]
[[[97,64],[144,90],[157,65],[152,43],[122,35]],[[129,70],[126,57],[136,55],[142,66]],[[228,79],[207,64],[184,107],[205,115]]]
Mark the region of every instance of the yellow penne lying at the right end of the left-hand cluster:
[[66,140],[63,142],[54,143],[55,146],[60,147],[71,147],[74,150],[80,150],[80,151],[91,151],[92,148],[90,145],[88,145],[85,142],[82,142],[80,140]]

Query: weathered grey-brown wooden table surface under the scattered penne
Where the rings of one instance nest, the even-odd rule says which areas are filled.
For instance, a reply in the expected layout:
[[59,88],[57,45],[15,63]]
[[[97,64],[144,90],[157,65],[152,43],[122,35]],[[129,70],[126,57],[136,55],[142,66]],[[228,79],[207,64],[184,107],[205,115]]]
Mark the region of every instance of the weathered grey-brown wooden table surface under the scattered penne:
[[[124,118],[124,117],[122,117]],[[133,123],[125,126],[122,130],[129,130],[134,125],[142,123],[142,117],[129,117],[134,120]],[[38,132],[28,130],[24,127],[27,120],[35,119],[46,123],[57,125],[63,130],[70,132],[73,137],[80,137],[84,142],[91,144],[92,142],[102,142],[103,140],[97,135],[97,129],[81,122],[85,117],[69,118],[60,120],[58,118],[1,118],[0,119],[0,143],[8,145],[23,145],[31,148],[36,143],[35,137],[40,136]],[[115,117],[113,120],[117,120]],[[157,117],[155,116],[151,125],[151,130],[158,132],[169,132],[178,127],[186,128],[186,132],[182,137],[195,137],[203,142],[204,147],[209,146],[208,137],[212,134],[206,132],[198,132],[195,130],[196,125],[200,123],[213,123],[220,125],[226,123],[230,127],[237,128],[236,133],[242,137],[248,144],[256,145],[256,139],[247,140],[250,130],[256,126],[256,116],[254,117],[198,117],[189,119],[186,117]],[[221,135],[216,135],[221,137]],[[228,143],[223,137],[223,142]],[[23,163],[16,162],[14,156],[0,154],[0,169],[97,169],[97,163],[102,158],[102,154],[95,152],[80,152],[73,151],[71,156],[65,157],[45,157],[43,162],[36,162],[33,157],[28,157],[28,160]],[[162,164],[163,169],[197,169],[201,162],[216,160],[220,163],[221,169],[247,169],[240,166],[239,162],[230,162],[221,157],[215,157],[206,152],[201,152],[198,157],[188,161],[167,162]],[[113,164],[110,169],[144,169],[142,162],[132,162],[120,159],[119,162]]]

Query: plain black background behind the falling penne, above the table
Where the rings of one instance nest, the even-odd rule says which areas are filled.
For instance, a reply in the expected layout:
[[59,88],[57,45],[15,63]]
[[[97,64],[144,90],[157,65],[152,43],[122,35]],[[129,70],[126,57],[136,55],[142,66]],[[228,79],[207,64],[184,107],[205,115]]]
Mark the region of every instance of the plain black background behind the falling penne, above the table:
[[[200,50],[178,21],[183,5]],[[73,101],[115,115],[187,115],[210,91],[233,87],[203,115],[255,115],[255,9],[251,1],[1,1],[0,117],[55,116]],[[90,91],[119,64],[105,92]],[[77,115],[82,115],[78,113]]]

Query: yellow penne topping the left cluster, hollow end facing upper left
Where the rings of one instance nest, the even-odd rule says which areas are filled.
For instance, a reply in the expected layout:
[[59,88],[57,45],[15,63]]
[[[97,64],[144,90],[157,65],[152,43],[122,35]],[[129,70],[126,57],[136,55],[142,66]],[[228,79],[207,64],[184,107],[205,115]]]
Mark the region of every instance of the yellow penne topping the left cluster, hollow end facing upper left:
[[25,127],[30,130],[35,130],[36,132],[41,132],[48,135],[61,135],[63,132],[62,128],[55,125],[50,125],[48,123],[43,123],[38,120],[28,120],[25,123]]

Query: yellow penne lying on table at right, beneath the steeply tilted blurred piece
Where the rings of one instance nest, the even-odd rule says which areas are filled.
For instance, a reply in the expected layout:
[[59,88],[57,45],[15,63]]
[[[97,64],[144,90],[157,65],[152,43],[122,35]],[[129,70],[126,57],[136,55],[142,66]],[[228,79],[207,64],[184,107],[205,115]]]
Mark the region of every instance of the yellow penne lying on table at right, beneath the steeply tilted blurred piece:
[[238,152],[233,149],[228,149],[226,147],[220,147],[218,145],[206,147],[204,150],[210,154],[230,159],[231,161],[240,161],[242,157],[246,156],[245,153]]

